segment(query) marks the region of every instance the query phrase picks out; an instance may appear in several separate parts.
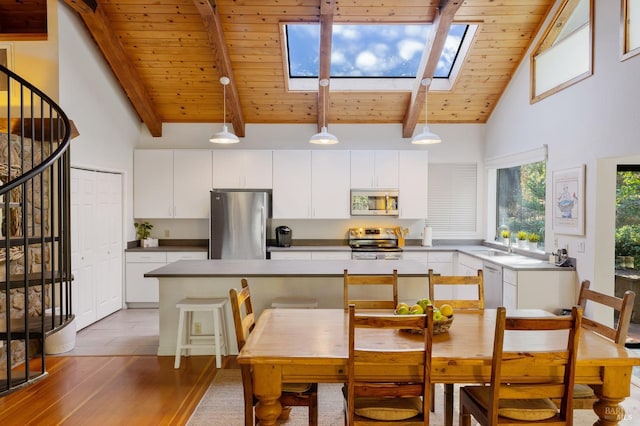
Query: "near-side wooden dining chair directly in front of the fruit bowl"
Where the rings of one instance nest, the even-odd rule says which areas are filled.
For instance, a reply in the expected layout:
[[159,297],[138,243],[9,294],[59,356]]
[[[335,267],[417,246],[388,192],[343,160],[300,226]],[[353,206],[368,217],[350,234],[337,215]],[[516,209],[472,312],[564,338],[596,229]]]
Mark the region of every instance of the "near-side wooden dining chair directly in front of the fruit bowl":
[[[433,307],[425,315],[356,314],[354,304],[348,310],[348,380],[343,388],[346,424],[428,425]],[[424,345],[416,350],[367,347],[361,333],[371,330],[406,333],[407,339],[417,338],[407,330],[416,331],[422,334]],[[407,377],[408,373],[420,378]]]

